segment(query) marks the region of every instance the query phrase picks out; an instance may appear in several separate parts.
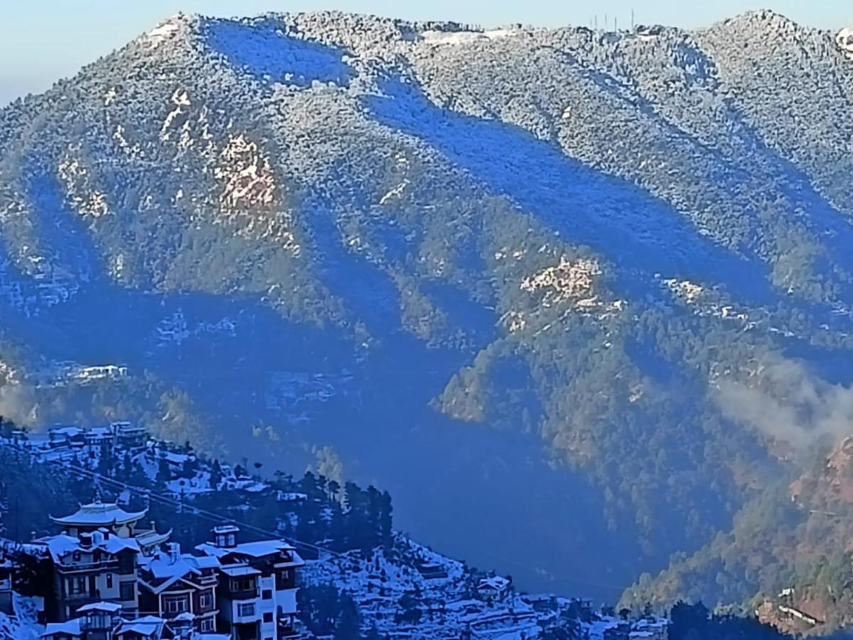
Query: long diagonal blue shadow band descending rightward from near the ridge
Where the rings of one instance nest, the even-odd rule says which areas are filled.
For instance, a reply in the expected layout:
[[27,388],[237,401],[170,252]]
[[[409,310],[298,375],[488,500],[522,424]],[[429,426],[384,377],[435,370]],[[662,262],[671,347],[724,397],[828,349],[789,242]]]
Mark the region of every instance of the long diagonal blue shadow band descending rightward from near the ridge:
[[[496,194],[592,247],[653,294],[650,276],[723,284],[742,300],[772,298],[766,269],[707,240],[679,212],[640,188],[566,157],[528,131],[436,107],[412,84],[388,79],[365,102],[374,117],[438,148]],[[710,282],[709,282],[710,281]],[[628,284],[624,282],[624,284]]]

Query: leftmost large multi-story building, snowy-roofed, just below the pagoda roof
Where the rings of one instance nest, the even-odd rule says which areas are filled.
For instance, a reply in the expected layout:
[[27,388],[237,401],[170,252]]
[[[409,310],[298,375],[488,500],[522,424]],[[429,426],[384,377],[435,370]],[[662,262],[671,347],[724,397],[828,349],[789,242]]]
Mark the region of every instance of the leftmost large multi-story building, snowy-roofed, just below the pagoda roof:
[[53,564],[55,620],[72,620],[82,607],[102,601],[114,602],[125,614],[136,615],[136,558],[140,549],[134,538],[120,538],[102,529],[78,536],[53,536],[41,542],[47,546]]

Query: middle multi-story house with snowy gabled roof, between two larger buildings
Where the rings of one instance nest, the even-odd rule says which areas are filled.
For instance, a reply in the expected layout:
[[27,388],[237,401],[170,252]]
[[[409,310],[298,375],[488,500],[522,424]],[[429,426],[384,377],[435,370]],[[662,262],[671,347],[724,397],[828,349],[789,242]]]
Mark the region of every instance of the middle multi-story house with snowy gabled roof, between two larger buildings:
[[200,633],[217,628],[219,561],[182,554],[177,543],[143,557],[139,567],[139,608],[172,625],[187,621]]

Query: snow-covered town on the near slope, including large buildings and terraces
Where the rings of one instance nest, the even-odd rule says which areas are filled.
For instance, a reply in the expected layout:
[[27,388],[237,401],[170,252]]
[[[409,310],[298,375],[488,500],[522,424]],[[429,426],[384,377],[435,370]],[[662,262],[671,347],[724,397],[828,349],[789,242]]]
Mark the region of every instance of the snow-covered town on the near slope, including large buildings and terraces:
[[[248,505],[266,496],[281,509],[277,518],[298,520],[316,501],[310,489],[284,491],[239,465],[209,463],[149,439],[130,422],[44,433],[5,425],[0,452],[26,455],[56,473],[84,474],[94,496],[73,512],[48,514],[47,534],[0,538],[0,636],[6,628],[9,637],[27,640],[666,638],[663,618],[617,616],[586,599],[519,593],[508,576],[475,572],[396,532],[374,549],[344,552],[293,540],[283,525],[276,530],[281,537],[263,535],[241,521],[255,508]],[[99,473],[107,460],[127,457],[140,478],[159,480],[143,489],[116,480],[118,469]],[[115,497],[105,498],[107,492]],[[223,495],[245,502],[222,515],[201,507],[203,497]],[[174,509],[172,528],[158,527],[154,517],[162,501]],[[199,516],[210,516],[210,527],[188,544],[187,532],[174,527]],[[8,535],[12,523],[5,517]],[[323,634],[329,585],[339,594],[336,620]],[[345,627],[342,612],[350,608],[356,622]],[[565,633],[551,636],[548,629]]]

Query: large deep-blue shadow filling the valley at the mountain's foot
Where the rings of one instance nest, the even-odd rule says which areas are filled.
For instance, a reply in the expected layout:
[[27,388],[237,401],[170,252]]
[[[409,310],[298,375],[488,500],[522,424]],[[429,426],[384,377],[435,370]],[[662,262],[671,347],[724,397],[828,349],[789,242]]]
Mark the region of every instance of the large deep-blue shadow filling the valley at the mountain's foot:
[[[537,438],[461,428],[429,407],[467,356],[427,348],[400,329],[397,289],[378,267],[345,251],[328,211],[310,214],[321,230],[320,268],[334,293],[348,304],[361,302],[356,310],[381,335],[366,358],[334,331],[290,323],[253,296],[148,293],[114,284],[55,182],[42,172],[29,187],[50,246],[72,252],[63,255],[72,265],[94,265],[88,282],[70,274],[79,288],[68,300],[36,315],[0,300],[4,326],[43,358],[31,369],[76,361],[126,364],[131,375],[152,372],[189,392],[232,456],[270,468],[299,463],[293,452],[287,463],[275,445],[253,439],[258,422],[287,425],[309,446],[332,445],[351,477],[392,492],[399,527],[439,550],[512,573],[522,588],[613,600],[635,578],[641,552],[632,525],[608,531],[600,492],[575,474],[548,468]],[[6,271],[26,295],[38,296],[36,279],[12,264]],[[365,288],[373,297],[363,298]],[[334,399],[303,399],[299,407],[311,412],[303,426],[288,424],[293,407],[271,409],[266,402],[276,375],[310,379],[345,370],[361,388],[351,393],[341,384]],[[645,558],[640,568],[662,560]]]

